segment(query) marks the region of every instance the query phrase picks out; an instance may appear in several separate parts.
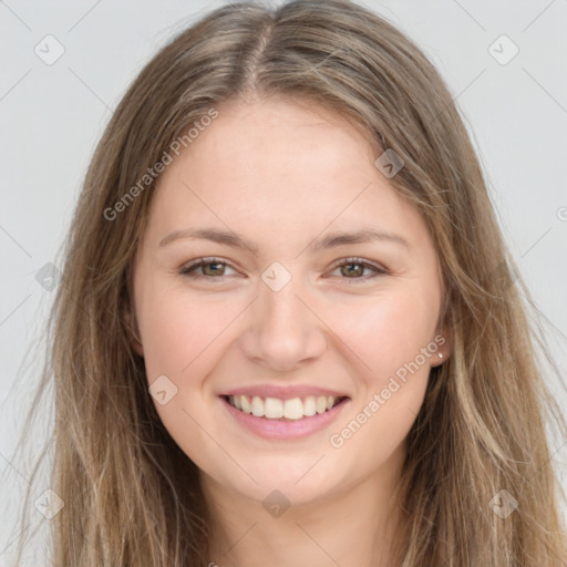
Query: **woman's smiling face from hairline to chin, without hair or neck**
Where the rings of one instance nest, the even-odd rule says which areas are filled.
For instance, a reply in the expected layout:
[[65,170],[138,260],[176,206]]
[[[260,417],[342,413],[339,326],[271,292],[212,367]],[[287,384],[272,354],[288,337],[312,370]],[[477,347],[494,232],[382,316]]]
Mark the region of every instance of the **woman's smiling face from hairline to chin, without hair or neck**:
[[449,344],[422,218],[309,109],[219,107],[163,173],[134,275],[165,427],[205,482],[276,504],[394,481]]

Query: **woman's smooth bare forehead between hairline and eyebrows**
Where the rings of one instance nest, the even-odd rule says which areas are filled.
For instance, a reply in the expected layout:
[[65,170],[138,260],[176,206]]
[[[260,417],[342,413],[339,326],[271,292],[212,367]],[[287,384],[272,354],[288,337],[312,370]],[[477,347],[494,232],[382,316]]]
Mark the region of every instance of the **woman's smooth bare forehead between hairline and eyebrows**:
[[331,223],[419,223],[342,116],[285,100],[233,102],[218,112],[162,174],[151,215],[162,233],[210,221],[239,233],[255,227],[262,237],[320,233]]

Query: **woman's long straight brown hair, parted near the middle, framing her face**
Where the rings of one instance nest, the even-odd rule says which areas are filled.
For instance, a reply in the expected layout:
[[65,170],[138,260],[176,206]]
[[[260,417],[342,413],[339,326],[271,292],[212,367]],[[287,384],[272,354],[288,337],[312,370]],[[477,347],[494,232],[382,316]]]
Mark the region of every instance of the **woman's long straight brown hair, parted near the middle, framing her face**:
[[[567,429],[544,383],[547,351],[528,319],[529,293],[453,97],[384,19],[347,0],[297,0],[227,4],[179,33],[135,79],[96,147],[37,398],[53,385],[51,487],[64,502],[51,519],[53,565],[210,561],[196,466],[161,423],[125,316],[158,178],[148,168],[245,94],[317,103],[360,128],[377,158],[395,152],[404,166],[390,183],[417,207],[436,247],[453,350],[432,369],[408,439],[400,565],[564,564],[546,424],[564,437]],[[504,505],[509,514],[497,513]]]

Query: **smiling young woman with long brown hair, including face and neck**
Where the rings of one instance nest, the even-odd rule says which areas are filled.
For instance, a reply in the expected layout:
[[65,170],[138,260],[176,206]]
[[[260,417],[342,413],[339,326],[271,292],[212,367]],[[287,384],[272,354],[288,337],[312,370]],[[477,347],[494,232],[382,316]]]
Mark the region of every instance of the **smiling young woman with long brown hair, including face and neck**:
[[53,565],[565,564],[513,267],[400,31],[342,0],[208,14],[131,85],[73,220]]

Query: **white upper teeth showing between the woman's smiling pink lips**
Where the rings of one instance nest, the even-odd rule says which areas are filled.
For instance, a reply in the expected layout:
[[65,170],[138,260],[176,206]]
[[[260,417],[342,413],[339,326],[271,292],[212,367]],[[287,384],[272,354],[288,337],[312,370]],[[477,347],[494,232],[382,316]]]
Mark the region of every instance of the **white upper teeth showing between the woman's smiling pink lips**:
[[346,395],[307,395],[289,400],[259,395],[223,395],[221,398],[243,413],[275,421],[298,421],[327,413],[348,400]]

